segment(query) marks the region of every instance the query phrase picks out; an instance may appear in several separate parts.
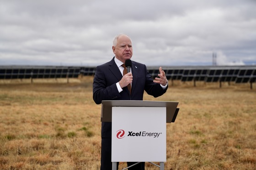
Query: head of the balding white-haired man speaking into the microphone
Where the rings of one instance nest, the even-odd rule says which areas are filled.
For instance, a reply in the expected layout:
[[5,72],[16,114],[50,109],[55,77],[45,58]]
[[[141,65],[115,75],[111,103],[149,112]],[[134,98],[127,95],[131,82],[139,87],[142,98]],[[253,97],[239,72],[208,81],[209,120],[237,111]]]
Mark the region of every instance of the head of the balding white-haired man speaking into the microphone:
[[112,46],[112,49],[116,58],[123,63],[133,56],[132,41],[128,36],[119,36],[117,46]]

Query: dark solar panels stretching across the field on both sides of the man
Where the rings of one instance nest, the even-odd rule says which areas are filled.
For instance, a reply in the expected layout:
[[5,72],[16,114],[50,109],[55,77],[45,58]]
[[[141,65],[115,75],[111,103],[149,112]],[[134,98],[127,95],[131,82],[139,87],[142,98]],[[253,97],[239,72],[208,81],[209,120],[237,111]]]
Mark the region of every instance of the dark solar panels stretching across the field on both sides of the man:
[[[163,67],[168,80],[204,82],[256,82],[256,66]],[[96,67],[0,66],[0,79],[23,78],[77,78],[92,76]],[[159,67],[148,67],[149,74],[157,77]]]

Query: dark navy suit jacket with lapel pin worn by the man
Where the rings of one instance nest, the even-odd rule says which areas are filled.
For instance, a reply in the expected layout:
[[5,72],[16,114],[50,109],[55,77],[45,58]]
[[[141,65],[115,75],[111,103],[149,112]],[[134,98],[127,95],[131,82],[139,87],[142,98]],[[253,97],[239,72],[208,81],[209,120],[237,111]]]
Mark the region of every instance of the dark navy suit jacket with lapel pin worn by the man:
[[[156,97],[164,94],[165,90],[160,84],[153,82],[144,64],[132,61],[132,93],[129,95],[128,88],[123,88],[121,93],[117,90],[116,83],[122,79],[122,74],[114,61],[96,67],[93,80],[93,100],[96,104],[101,104],[102,100],[143,100],[144,90],[149,95]],[[111,138],[110,122],[101,123],[101,137]]]

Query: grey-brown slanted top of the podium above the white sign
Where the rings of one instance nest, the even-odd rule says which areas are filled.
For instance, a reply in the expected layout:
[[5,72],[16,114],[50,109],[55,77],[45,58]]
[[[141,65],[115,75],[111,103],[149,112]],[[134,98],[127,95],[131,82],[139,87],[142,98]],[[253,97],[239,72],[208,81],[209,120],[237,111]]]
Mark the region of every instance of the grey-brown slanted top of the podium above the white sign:
[[178,102],[145,100],[104,100],[101,103],[101,122],[112,122],[112,107],[165,107],[166,123],[171,123]]

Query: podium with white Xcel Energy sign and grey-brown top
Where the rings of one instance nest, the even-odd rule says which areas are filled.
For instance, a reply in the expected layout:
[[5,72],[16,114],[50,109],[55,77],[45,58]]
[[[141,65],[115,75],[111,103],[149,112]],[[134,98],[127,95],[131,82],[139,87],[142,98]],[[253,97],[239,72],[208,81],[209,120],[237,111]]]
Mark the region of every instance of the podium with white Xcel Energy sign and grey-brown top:
[[102,101],[101,122],[112,122],[112,170],[116,170],[117,162],[160,162],[156,166],[164,170],[166,123],[175,121],[177,105],[178,102]]

